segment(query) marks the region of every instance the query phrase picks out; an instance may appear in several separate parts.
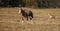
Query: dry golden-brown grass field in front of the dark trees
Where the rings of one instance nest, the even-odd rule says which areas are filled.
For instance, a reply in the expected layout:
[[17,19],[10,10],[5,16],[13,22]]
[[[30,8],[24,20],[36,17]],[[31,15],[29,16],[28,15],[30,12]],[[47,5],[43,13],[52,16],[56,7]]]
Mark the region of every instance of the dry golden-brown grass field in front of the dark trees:
[[[60,31],[60,9],[31,10],[34,14],[33,20],[24,19],[22,24],[18,8],[0,8],[0,31]],[[54,21],[49,19],[48,13],[55,15]]]

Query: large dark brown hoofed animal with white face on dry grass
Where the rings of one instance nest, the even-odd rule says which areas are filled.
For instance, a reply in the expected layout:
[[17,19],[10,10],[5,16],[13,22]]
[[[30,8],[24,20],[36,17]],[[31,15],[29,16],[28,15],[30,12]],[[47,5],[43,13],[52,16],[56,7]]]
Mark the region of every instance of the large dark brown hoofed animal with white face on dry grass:
[[32,13],[31,10],[30,11],[27,11],[25,9],[19,8],[19,14],[22,15],[22,20],[24,20],[23,17],[26,18],[26,20],[28,20],[28,18],[30,20],[32,20],[32,18],[33,18],[33,13]]

